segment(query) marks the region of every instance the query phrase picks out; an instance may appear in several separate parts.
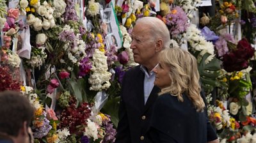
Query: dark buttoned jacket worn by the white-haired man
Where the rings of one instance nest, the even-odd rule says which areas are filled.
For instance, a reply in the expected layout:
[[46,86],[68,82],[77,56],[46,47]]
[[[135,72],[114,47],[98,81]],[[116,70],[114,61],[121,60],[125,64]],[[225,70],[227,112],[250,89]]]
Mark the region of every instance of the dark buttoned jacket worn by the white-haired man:
[[[119,123],[116,143],[148,142],[147,132],[152,119],[154,103],[160,89],[153,87],[147,103],[144,102],[144,76],[140,66],[128,70],[122,82],[119,107]],[[216,133],[207,124],[207,140],[217,139]]]

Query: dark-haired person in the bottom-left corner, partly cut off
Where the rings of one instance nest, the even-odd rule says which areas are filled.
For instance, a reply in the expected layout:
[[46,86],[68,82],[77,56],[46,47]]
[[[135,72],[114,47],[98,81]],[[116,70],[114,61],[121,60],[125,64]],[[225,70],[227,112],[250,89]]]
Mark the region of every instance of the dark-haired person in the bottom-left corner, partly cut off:
[[33,136],[29,124],[34,108],[29,100],[14,91],[0,93],[0,142],[29,143]]

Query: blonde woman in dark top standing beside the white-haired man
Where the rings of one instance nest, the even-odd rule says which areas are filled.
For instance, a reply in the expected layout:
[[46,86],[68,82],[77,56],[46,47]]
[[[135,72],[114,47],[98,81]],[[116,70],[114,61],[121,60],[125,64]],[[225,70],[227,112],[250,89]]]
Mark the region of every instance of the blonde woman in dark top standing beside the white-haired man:
[[152,142],[205,143],[207,116],[195,57],[172,48],[159,54],[154,84],[161,89],[148,137]]

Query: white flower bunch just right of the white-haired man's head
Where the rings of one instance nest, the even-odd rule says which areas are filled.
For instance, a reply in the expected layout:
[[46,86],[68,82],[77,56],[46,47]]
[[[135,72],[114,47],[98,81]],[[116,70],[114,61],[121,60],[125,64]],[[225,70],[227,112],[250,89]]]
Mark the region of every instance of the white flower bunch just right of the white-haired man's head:
[[189,42],[189,45],[193,48],[192,50],[201,51],[200,55],[204,56],[205,53],[211,54],[207,57],[205,63],[209,63],[213,59],[214,45],[210,41],[206,41],[204,36],[201,35],[201,31],[196,28],[195,24],[190,24],[186,33],[183,37]]

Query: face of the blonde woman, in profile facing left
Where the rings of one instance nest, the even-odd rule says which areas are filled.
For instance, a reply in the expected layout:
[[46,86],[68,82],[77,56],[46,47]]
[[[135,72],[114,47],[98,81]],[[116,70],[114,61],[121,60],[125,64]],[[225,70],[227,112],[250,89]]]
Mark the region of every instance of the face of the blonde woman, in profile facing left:
[[156,73],[156,79],[154,84],[163,89],[164,87],[168,87],[171,85],[172,80],[169,76],[170,67],[166,66],[164,63],[159,63],[156,68],[153,69],[153,72]]

